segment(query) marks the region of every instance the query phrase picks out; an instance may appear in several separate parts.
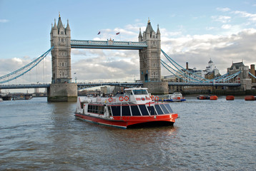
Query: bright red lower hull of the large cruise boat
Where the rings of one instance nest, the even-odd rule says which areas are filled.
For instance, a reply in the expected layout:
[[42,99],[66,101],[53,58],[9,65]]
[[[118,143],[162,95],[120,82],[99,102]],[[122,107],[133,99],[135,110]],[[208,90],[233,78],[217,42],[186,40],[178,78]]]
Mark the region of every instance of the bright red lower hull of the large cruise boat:
[[129,125],[137,125],[142,123],[175,123],[178,118],[177,113],[166,115],[147,115],[147,116],[114,116],[113,119],[99,118],[92,115],[75,114],[77,119],[86,120],[92,123],[99,123],[102,125],[109,125],[118,128],[126,129]]

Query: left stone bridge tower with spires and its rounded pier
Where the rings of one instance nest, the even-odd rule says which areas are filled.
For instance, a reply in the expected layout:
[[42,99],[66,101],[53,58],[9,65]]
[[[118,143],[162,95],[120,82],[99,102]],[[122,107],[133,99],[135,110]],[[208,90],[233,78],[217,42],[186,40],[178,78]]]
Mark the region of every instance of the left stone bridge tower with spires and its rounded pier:
[[71,30],[69,21],[64,28],[61,16],[58,24],[54,19],[51,24],[51,87],[48,90],[48,101],[76,101],[77,84],[72,83],[71,72]]

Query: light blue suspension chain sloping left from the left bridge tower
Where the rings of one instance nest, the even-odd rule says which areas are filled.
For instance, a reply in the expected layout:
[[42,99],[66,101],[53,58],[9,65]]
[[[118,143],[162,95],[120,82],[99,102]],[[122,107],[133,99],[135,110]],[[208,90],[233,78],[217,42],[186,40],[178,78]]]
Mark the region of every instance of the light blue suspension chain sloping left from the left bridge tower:
[[31,71],[31,69],[37,66],[37,64],[41,62],[53,48],[54,46],[52,46],[48,51],[43,53],[41,56],[39,56],[34,61],[27,64],[26,66],[19,68],[18,70],[11,72],[9,74],[6,74],[4,76],[1,76],[0,83],[7,83],[9,81],[13,81],[14,79],[19,78],[20,76],[23,76],[25,73]]

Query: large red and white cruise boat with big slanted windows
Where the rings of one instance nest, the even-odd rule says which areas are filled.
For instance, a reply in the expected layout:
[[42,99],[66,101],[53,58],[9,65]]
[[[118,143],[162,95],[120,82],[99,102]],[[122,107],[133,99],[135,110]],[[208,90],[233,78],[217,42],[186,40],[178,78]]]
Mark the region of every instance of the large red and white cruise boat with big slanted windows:
[[169,103],[155,103],[147,88],[127,88],[113,98],[77,98],[75,117],[102,125],[130,128],[135,125],[173,125],[178,118]]

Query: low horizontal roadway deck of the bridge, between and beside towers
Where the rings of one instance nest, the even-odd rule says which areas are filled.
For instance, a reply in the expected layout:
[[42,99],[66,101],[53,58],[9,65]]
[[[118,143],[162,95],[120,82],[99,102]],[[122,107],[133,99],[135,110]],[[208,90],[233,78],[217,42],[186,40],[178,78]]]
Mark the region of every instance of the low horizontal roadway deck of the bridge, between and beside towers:
[[[168,83],[169,86],[228,86],[237,87],[241,86],[240,83]],[[11,85],[0,85],[0,89],[19,89],[19,88],[49,88],[50,83],[39,83],[39,84],[11,84]],[[121,86],[121,87],[139,87],[143,86],[143,83],[77,83],[79,89],[91,88],[97,86]]]

